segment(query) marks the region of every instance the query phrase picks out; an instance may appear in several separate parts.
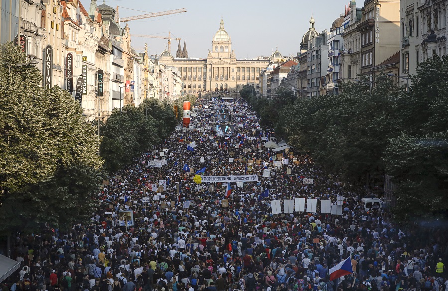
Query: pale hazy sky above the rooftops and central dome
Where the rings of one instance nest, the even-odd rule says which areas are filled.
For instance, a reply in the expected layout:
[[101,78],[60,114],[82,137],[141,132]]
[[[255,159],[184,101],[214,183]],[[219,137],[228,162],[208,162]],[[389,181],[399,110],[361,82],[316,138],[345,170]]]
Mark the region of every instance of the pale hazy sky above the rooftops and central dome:
[[[212,38],[218,31],[221,17],[231,37],[237,59],[270,56],[278,47],[285,56],[296,55],[303,34],[309,29],[311,14],[318,32],[330,30],[333,21],[345,13],[350,0],[104,0],[106,5],[119,6],[119,16],[185,8],[187,12],[133,20],[130,27],[132,46],[142,52],[148,43],[149,54],[160,54],[167,40],[132,37],[132,34],[168,36],[186,40],[189,57],[206,58],[212,49]],[[81,0],[89,11],[90,0]],[[363,1],[358,0],[362,6]],[[97,5],[103,0],[97,0]],[[121,8],[123,7],[123,8]],[[130,10],[130,9],[134,10]],[[138,10],[138,11],[136,11]],[[125,24],[121,23],[124,27]],[[171,53],[176,54],[177,41],[171,40]]]

